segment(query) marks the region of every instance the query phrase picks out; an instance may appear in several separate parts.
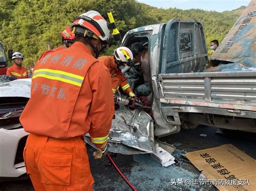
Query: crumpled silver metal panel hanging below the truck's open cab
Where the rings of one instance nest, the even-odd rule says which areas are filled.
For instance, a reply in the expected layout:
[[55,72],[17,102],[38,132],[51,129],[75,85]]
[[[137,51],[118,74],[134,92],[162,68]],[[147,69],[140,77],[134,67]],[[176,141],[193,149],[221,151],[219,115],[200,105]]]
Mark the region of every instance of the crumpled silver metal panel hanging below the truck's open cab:
[[109,151],[122,154],[154,152],[153,119],[143,108],[119,103],[109,135]]

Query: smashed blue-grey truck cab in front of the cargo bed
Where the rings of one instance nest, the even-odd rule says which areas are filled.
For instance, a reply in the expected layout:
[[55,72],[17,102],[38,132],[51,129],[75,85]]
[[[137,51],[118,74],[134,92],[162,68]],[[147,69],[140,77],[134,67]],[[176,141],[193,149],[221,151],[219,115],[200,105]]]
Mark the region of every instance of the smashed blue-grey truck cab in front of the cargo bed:
[[[133,43],[148,43],[151,70],[152,114],[155,122],[154,135],[165,136],[180,131],[183,121],[179,112],[170,110],[163,98],[176,95],[177,81],[169,79],[167,94],[163,91],[163,77],[169,74],[202,72],[208,62],[203,26],[197,20],[171,19],[167,23],[139,27],[128,31],[122,46],[131,47]],[[136,88],[136,77],[129,69],[124,72],[130,86]],[[143,79],[140,79],[140,82]],[[184,80],[180,79],[179,83]],[[193,89],[193,84],[190,84]],[[176,86],[176,87],[174,87]],[[166,89],[166,90],[167,90]]]

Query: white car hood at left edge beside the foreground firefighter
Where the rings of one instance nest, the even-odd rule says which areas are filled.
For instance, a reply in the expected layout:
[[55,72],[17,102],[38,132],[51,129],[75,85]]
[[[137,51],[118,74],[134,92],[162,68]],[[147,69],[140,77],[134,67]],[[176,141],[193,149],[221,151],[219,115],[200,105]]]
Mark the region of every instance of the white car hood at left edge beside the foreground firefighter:
[[30,98],[31,79],[19,79],[0,83],[0,97]]

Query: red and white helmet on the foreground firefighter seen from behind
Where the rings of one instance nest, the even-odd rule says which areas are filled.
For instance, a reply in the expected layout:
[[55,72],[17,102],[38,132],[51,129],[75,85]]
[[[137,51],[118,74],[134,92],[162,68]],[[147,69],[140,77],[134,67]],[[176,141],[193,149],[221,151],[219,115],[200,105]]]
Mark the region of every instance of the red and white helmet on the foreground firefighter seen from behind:
[[[82,26],[84,30],[81,30],[80,27]],[[84,34],[93,37],[99,38],[102,41],[109,42],[110,39],[110,31],[109,27],[107,26],[106,20],[98,13],[97,11],[88,11],[83,13],[75,21],[70,25],[72,33]],[[91,31],[93,34],[88,33]],[[84,35],[84,36],[85,36]]]

